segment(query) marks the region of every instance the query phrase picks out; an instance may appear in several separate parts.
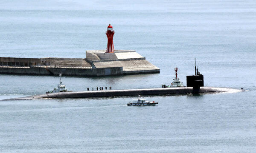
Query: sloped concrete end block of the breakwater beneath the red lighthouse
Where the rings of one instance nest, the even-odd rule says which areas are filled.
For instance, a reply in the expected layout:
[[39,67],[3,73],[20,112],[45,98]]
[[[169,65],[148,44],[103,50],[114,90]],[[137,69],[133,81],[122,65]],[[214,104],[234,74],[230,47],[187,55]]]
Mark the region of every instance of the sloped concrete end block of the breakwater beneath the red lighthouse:
[[86,51],[87,61],[97,74],[146,74],[159,73],[160,69],[148,62],[134,50],[106,50]]

